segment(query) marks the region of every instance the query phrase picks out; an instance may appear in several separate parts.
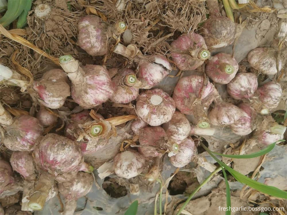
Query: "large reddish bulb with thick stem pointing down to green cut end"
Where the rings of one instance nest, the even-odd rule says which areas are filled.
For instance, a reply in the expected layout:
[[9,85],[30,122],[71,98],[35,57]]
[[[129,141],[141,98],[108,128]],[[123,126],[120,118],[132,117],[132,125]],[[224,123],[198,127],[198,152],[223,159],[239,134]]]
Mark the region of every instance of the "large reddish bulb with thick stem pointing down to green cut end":
[[175,106],[183,114],[194,115],[197,126],[210,127],[205,107],[209,107],[214,99],[214,86],[199,75],[183,77],[174,88],[173,96]]

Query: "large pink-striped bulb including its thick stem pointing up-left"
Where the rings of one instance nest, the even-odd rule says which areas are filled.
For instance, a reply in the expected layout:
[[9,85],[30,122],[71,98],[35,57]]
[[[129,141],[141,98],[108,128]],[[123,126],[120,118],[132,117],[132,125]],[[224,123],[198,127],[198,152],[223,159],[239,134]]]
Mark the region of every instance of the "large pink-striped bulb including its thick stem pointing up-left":
[[72,82],[71,95],[83,108],[93,108],[108,100],[113,94],[113,84],[106,67],[79,63],[71,55],[59,58],[63,70]]

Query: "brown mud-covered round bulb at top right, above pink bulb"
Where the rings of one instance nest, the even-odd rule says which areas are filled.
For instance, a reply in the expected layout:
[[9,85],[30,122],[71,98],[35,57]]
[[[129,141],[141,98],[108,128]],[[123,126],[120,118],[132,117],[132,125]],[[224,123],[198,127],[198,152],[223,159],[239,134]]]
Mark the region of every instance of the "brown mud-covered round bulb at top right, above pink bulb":
[[234,42],[236,24],[228,17],[212,17],[203,24],[201,29],[201,35],[210,48],[221,48]]

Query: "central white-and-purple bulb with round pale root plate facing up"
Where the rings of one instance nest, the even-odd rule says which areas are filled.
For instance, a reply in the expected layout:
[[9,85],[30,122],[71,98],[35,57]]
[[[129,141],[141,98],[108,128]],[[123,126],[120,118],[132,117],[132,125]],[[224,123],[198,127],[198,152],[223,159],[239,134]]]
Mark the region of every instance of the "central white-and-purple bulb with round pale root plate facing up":
[[144,122],[151,126],[159,126],[172,118],[175,104],[162,89],[151,89],[137,97],[136,111]]

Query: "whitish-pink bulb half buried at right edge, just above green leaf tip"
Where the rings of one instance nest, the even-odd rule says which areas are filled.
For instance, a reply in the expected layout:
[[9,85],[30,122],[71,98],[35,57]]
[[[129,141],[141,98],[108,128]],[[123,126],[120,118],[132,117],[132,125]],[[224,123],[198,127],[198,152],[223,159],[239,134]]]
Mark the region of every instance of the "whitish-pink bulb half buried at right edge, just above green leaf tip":
[[267,133],[264,130],[255,130],[252,138],[259,144],[270,145],[278,140],[284,139],[284,135]]

